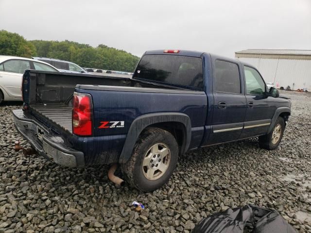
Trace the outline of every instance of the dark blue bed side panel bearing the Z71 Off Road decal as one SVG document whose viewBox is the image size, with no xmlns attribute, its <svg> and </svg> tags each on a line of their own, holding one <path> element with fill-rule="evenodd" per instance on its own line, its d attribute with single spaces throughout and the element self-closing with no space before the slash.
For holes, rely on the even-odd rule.
<svg viewBox="0 0 311 233">
<path fill-rule="evenodd" d="M 135 118 L 144 114 L 178 112 L 190 116 L 191 127 L 204 126 L 207 98 L 200 94 L 172 94 L 77 90 L 93 99 L 94 136 L 126 134 Z M 124 121 L 122 128 L 100 128 L 104 121 Z"/>
</svg>

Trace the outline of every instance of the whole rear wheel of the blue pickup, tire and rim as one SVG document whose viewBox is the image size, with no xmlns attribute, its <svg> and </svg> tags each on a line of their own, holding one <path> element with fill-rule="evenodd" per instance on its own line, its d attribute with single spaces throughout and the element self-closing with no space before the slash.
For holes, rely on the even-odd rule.
<svg viewBox="0 0 311 233">
<path fill-rule="evenodd" d="M 168 182 L 177 158 L 174 136 L 159 128 L 149 128 L 139 136 L 132 157 L 121 168 L 131 186 L 150 192 Z"/>
</svg>

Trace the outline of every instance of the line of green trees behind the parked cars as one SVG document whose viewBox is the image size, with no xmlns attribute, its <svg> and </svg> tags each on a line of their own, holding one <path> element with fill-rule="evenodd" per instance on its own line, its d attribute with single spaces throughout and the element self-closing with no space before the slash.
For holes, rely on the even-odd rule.
<svg viewBox="0 0 311 233">
<path fill-rule="evenodd" d="M 74 41 L 30 40 L 17 33 L 0 31 L 0 55 L 49 57 L 107 70 L 133 72 L 139 57 L 100 44 L 96 48 Z"/>
</svg>

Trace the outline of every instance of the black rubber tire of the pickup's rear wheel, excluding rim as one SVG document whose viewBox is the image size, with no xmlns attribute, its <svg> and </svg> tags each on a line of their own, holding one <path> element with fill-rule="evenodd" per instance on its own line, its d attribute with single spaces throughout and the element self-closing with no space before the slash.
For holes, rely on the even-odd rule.
<svg viewBox="0 0 311 233">
<path fill-rule="evenodd" d="M 159 146 L 157 146 L 159 145 Z M 155 180 L 147 179 L 147 171 L 146 168 L 151 169 L 151 166 L 142 166 L 143 160 L 148 154 L 151 156 L 152 159 L 154 154 L 151 152 L 151 148 L 156 146 L 161 149 L 161 145 L 164 145 L 167 147 L 166 149 L 169 149 L 169 158 L 164 157 L 162 160 L 162 163 L 168 163 L 166 166 L 165 172 L 161 172 L 160 170 L 156 170 L 155 174 L 158 174 L 160 176 L 159 178 L 153 178 Z M 125 177 L 125 180 L 133 187 L 144 191 L 144 192 L 150 192 L 153 191 L 165 183 L 167 183 L 173 174 L 173 171 L 177 164 L 178 159 L 178 144 L 176 142 L 176 139 L 174 136 L 162 129 L 159 128 L 148 128 L 145 131 L 141 133 L 141 135 L 138 138 L 138 141 L 135 144 L 132 157 L 127 161 L 127 163 L 121 165 L 122 173 Z M 157 155 L 159 156 L 159 155 Z M 162 155 L 161 155 L 162 158 Z M 166 160 L 166 159 L 167 160 Z M 158 158 L 155 158 L 154 160 L 158 160 Z M 147 158 L 146 158 L 147 160 Z M 166 162 L 165 162 L 166 160 Z M 149 161 L 149 158 L 148 158 Z M 150 160 L 152 161 L 152 160 Z M 161 165 L 161 161 L 156 161 Z M 150 162 L 151 163 L 151 162 Z M 155 167 L 156 164 L 153 166 Z M 159 166 L 160 167 L 160 166 Z M 154 168 L 157 169 L 157 168 Z"/>
</svg>

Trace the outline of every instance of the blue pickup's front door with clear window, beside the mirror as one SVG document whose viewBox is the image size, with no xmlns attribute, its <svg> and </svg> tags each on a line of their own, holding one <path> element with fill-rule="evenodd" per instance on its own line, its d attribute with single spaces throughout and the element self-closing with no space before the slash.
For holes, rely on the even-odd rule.
<svg viewBox="0 0 311 233">
<path fill-rule="evenodd" d="M 267 97 L 267 87 L 254 67 L 244 66 L 246 115 L 241 137 L 265 134 L 270 126 L 276 108 L 271 105 L 272 97 Z"/>
</svg>

